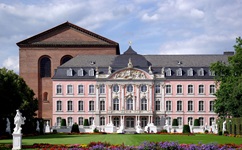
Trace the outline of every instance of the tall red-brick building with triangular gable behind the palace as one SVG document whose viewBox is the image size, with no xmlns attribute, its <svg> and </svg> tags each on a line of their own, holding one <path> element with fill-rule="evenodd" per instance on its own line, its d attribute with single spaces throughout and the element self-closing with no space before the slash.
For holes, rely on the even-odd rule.
<svg viewBox="0 0 242 150">
<path fill-rule="evenodd" d="M 20 76 L 39 100 L 38 117 L 52 120 L 55 69 L 77 55 L 119 55 L 119 44 L 65 22 L 19 43 Z"/>
</svg>

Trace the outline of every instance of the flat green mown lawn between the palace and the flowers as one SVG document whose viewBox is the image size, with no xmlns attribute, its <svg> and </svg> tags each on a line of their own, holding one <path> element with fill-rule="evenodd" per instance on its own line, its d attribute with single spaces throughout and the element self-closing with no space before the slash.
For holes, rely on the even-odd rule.
<svg viewBox="0 0 242 150">
<path fill-rule="evenodd" d="M 23 137 L 23 145 L 34 143 L 49 144 L 88 144 L 92 141 L 109 142 L 111 144 L 140 145 L 143 141 L 174 141 L 187 144 L 218 143 L 218 144 L 242 144 L 242 138 L 218 136 L 210 134 L 196 135 L 159 135 L 159 134 L 49 134 L 41 136 Z M 0 144 L 12 144 L 12 139 L 0 140 Z"/>
</svg>

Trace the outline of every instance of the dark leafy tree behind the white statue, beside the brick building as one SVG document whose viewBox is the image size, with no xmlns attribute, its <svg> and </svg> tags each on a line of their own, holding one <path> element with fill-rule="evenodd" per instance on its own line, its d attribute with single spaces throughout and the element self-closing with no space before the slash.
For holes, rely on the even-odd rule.
<svg viewBox="0 0 242 150">
<path fill-rule="evenodd" d="M 23 78 L 6 68 L 0 69 L 0 118 L 13 118 L 16 110 L 26 118 L 33 118 L 38 101 Z"/>
</svg>

